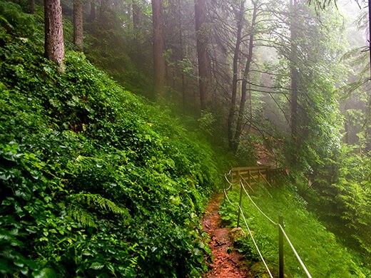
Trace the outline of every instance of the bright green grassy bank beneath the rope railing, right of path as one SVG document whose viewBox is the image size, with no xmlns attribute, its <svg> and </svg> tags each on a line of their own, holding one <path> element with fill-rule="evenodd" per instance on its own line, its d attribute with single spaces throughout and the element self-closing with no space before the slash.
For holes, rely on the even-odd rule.
<svg viewBox="0 0 371 278">
<path fill-rule="evenodd" d="M 307 210 L 305 200 L 295 190 L 289 187 L 267 188 L 264 185 L 256 185 L 253 190 L 252 199 L 271 219 L 278 221 L 278 215 L 283 215 L 285 232 L 312 277 L 370 277 L 370 269 L 362 264 L 359 254 L 337 242 L 335 235 Z M 235 205 L 238 204 L 239 193 L 237 185 L 228 192 Z M 260 214 L 247 195 L 243 196 L 242 208 L 264 259 L 270 269 L 278 273 L 278 227 Z M 226 223 L 236 225 L 235 206 L 225 201 L 220 213 Z M 241 227 L 248 233 L 243 220 Z M 264 277 L 265 268 L 250 236 L 240 240 L 238 247 L 250 260 L 250 271 L 254 276 Z M 285 274 L 288 277 L 306 277 L 286 241 Z"/>
</svg>

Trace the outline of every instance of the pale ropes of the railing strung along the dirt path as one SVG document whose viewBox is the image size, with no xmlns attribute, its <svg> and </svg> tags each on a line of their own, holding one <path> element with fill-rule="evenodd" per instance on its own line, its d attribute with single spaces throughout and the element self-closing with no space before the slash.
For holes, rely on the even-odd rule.
<svg viewBox="0 0 371 278">
<path fill-rule="evenodd" d="M 230 175 L 230 172 L 228 173 Z M 227 180 L 227 182 L 229 183 L 229 187 L 228 188 L 225 188 L 224 189 L 224 195 L 226 197 L 226 199 L 228 200 L 228 202 L 230 202 L 230 205 L 233 205 L 233 203 L 230 201 L 230 199 L 228 198 L 228 194 L 227 194 L 227 191 L 230 190 L 230 188 L 232 187 L 233 183 L 230 182 L 230 180 L 228 180 L 228 177 L 227 175 L 228 174 L 225 174 L 225 180 Z M 278 222 L 275 222 L 273 221 L 270 217 L 268 217 L 268 215 L 266 215 L 263 210 L 260 209 L 260 207 L 258 205 L 256 205 L 256 203 L 253 201 L 253 199 L 251 198 L 250 194 L 248 194 L 248 191 L 245 189 L 245 186 L 243 185 L 243 182 L 245 182 L 249 187 L 250 185 L 248 184 L 248 182 L 246 182 L 246 180 L 244 180 L 243 178 L 240 177 L 240 186 L 241 186 L 241 191 L 240 191 L 240 201 L 241 201 L 241 197 L 242 197 L 242 192 L 244 191 L 245 194 L 248 196 L 250 202 L 253 203 L 253 205 L 256 207 L 256 209 L 273 225 L 275 226 L 278 226 L 280 232 L 282 232 L 282 234 L 284 235 L 285 239 L 288 241 L 288 244 L 290 245 L 290 248 L 293 250 L 294 254 L 295 254 L 295 257 L 298 259 L 298 262 L 300 264 L 300 266 L 303 268 L 305 274 L 307 275 L 308 278 L 312 278 L 312 276 L 310 275 L 310 272 L 308 272 L 308 269 L 307 267 L 305 267 L 305 264 L 303 263 L 303 260 L 300 258 L 298 252 L 296 251 L 295 247 L 293 246 L 293 243 L 290 241 L 290 238 L 288 237 L 288 235 L 286 234 L 285 232 L 285 229 L 283 228 L 283 225 L 281 225 L 280 223 Z M 233 205 L 235 206 L 235 205 Z M 272 274 L 270 273 L 270 270 L 268 268 L 268 265 L 265 263 L 265 260 L 263 258 L 263 255 L 261 254 L 260 252 L 260 249 L 258 248 L 254 238 L 253 238 L 253 235 L 250 231 L 250 227 L 248 227 L 248 222 L 246 221 L 246 218 L 245 218 L 245 215 L 243 214 L 243 210 L 242 210 L 242 207 L 241 207 L 241 202 L 239 203 L 238 205 L 238 222 L 239 222 L 239 218 L 240 218 L 240 215 L 242 215 L 243 217 L 243 220 L 245 222 L 245 225 L 248 229 L 248 232 L 250 234 L 250 237 L 252 238 L 253 240 L 253 243 L 255 245 L 255 248 L 258 250 L 258 253 L 260 255 L 260 258 L 262 259 L 264 265 L 265 265 L 265 268 L 267 269 L 268 273 L 270 274 L 270 277 L 273 277 Z M 281 274 L 280 274 L 281 276 Z M 282 277 L 283 277 L 283 274 L 282 274 Z"/>
</svg>

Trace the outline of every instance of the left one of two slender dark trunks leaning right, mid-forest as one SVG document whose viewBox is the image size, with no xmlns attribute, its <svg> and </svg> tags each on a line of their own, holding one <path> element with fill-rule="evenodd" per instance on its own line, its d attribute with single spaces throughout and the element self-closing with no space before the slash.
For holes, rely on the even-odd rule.
<svg viewBox="0 0 371 278">
<path fill-rule="evenodd" d="M 230 97 L 230 107 L 228 113 L 228 144 L 229 148 L 232 150 L 234 145 L 233 138 L 233 121 L 235 118 L 235 103 L 237 96 L 237 84 L 238 84 L 238 58 L 240 54 L 241 45 L 241 33 L 243 26 L 243 15 L 245 14 L 245 0 L 241 1 L 240 11 L 237 16 L 237 36 L 235 40 L 235 51 L 233 53 L 233 78 L 232 78 L 232 96 Z"/>
</svg>

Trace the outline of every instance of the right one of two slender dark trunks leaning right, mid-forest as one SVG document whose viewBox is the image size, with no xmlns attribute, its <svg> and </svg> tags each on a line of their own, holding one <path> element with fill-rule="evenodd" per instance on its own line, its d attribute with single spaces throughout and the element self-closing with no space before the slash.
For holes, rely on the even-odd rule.
<svg viewBox="0 0 371 278">
<path fill-rule="evenodd" d="M 235 126 L 235 138 L 233 140 L 233 152 L 237 152 L 238 144 L 240 143 L 240 136 L 242 133 L 242 122 L 243 114 L 245 113 L 245 103 L 246 103 L 246 93 L 248 91 L 248 79 L 250 75 L 250 66 L 253 61 L 253 48 L 254 48 L 254 33 L 255 33 L 255 22 L 258 12 L 258 5 L 253 1 L 253 19 L 251 21 L 250 39 L 248 43 L 248 57 L 246 58 L 245 71 L 243 72 L 243 81 L 241 88 L 241 99 L 240 99 L 240 109 L 238 110 L 238 118 Z"/>
</svg>

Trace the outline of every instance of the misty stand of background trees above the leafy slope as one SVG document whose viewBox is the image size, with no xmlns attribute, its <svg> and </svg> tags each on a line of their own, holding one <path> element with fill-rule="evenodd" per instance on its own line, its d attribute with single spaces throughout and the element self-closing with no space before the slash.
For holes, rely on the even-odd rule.
<svg viewBox="0 0 371 278">
<path fill-rule="evenodd" d="M 82 0 L 73 3 L 74 42 L 82 50 Z M 97 14 L 86 27 L 101 38 L 91 43 L 96 63 L 133 86 L 142 86 L 141 78 L 152 72 L 153 83 L 146 80 L 152 96 L 182 103 L 195 115 L 208 112 L 206 118 L 201 113 L 200 122 L 225 135 L 218 136 L 219 143 L 233 153 L 253 142 L 249 136 L 265 140 L 277 130 L 292 139 L 292 150 L 321 149 L 314 138 L 321 141 L 335 128 L 321 113 L 330 119 L 337 111 L 326 78 L 337 74 L 329 63 L 337 57 L 338 40 L 323 36 L 334 19 L 318 20 L 315 9 L 301 0 L 164 3 L 91 0 L 91 14 Z"/>
</svg>

